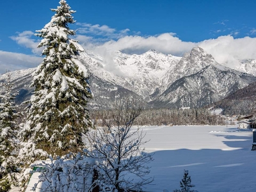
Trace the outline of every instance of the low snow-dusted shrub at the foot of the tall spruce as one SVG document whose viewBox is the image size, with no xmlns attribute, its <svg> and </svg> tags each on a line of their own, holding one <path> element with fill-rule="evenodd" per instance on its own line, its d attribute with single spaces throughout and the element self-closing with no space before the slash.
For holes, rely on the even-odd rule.
<svg viewBox="0 0 256 192">
<path fill-rule="evenodd" d="M 33 190 L 40 185 L 40 191 L 89 191 L 92 184 L 93 166 L 85 156 L 68 154 L 56 160 L 42 161 L 32 166 L 39 166 L 41 175 Z"/>
</svg>

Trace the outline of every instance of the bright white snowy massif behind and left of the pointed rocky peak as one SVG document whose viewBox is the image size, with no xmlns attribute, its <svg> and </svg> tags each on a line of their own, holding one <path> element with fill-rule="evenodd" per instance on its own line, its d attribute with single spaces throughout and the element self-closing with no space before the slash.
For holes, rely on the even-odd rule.
<svg viewBox="0 0 256 192">
<path fill-rule="evenodd" d="M 111 69 L 106 66 L 104 60 L 93 54 L 88 54 L 88 52 L 81 54 L 81 60 L 93 76 L 118 84 L 149 101 L 149 95 L 154 93 L 157 88 L 161 92 L 165 90 L 166 72 L 177 65 L 180 58 L 155 50 L 141 55 L 116 52 L 113 63 L 108 63 L 108 65 L 112 65 Z"/>
</svg>

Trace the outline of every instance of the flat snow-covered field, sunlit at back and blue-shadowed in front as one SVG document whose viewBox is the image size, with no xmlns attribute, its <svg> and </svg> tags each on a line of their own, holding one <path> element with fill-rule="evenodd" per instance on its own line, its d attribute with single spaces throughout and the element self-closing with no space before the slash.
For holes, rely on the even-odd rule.
<svg viewBox="0 0 256 192">
<path fill-rule="evenodd" d="M 154 153 L 146 191 L 179 189 L 189 170 L 200 192 L 256 191 L 256 151 L 252 131 L 225 126 L 141 127 L 147 133 L 147 152 Z"/>
</svg>

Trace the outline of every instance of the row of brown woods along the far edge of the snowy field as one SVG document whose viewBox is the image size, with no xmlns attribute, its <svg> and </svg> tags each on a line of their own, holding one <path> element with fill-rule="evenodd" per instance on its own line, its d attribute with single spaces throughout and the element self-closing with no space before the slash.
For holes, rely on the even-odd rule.
<svg viewBox="0 0 256 192">
<path fill-rule="evenodd" d="M 95 125 L 101 126 L 111 118 L 111 110 L 90 111 Z M 209 109 L 141 109 L 134 125 L 226 125 L 226 119 L 214 115 Z"/>
</svg>

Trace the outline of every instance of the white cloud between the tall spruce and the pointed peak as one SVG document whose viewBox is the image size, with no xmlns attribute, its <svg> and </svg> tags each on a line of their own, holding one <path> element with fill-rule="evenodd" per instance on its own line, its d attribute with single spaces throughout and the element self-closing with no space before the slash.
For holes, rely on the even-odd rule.
<svg viewBox="0 0 256 192">
<path fill-rule="evenodd" d="M 81 36 L 79 37 L 81 39 Z M 118 74 L 119 76 L 125 76 L 118 66 L 116 66 L 113 59 L 115 58 L 116 51 L 122 51 L 129 54 L 142 54 L 150 49 L 156 49 L 164 54 L 173 54 L 175 56 L 182 56 L 184 52 L 190 51 L 196 46 L 193 42 L 182 42 L 175 36 L 175 33 L 164 33 L 157 36 L 124 36 L 118 40 L 109 40 L 99 44 L 94 44 L 91 39 L 84 38 L 88 42 L 83 42 L 85 49 L 95 54 L 99 54 L 104 58 L 105 69 Z"/>
</svg>

